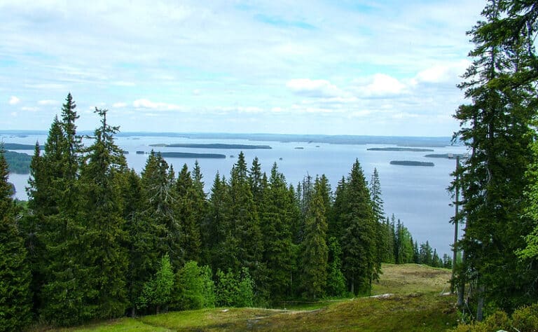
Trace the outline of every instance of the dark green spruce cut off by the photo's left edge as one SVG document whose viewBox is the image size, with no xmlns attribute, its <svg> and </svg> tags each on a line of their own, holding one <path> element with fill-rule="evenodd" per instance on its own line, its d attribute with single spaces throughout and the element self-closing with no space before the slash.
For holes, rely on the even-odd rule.
<svg viewBox="0 0 538 332">
<path fill-rule="evenodd" d="M 32 276 L 25 242 L 18 230 L 17 214 L 8 184 L 4 146 L 0 144 L 0 331 L 20 331 L 32 319 Z"/>
</svg>

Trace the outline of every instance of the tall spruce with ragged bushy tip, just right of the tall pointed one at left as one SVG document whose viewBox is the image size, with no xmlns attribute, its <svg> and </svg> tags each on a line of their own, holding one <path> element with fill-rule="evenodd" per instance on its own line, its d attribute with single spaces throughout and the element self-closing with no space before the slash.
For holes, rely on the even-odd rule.
<svg viewBox="0 0 538 332">
<path fill-rule="evenodd" d="M 79 186 L 86 198 L 78 218 L 84 226 L 79 241 L 81 263 L 88 270 L 83 285 L 88 289 L 83 305 L 91 307 L 90 318 L 120 317 L 127 307 L 125 273 L 127 252 L 121 246 L 123 233 L 123 196 L 127 162 L 114 143 L 119 130 L 106 122 L 106 109 L 95 109 L 101 126 L 95 141 L 85 151 Z"/>
</svg>

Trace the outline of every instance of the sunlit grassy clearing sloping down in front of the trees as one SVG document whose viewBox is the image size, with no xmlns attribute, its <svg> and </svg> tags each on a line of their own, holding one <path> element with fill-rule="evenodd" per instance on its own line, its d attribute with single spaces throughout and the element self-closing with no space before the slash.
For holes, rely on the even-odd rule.
<svg viewBox="0 0 538 332">
<path fill-rule="evenodd" d="M 374 294 L 326 300 L 287 310 L 214 308 L 116 319 L 60 331 L 444 331 L 457 322 L 450 271 L 423 265 L 383 265 Z"/>
</svg>

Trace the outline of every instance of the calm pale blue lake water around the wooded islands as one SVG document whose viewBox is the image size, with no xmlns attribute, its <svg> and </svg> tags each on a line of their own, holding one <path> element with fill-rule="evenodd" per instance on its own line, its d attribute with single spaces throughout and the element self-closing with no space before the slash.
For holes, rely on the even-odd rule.
<svg viewBox="0 0 538 332">
<path fill-rule="evenodd" d="M 46 141 L 46 135 L 29 135 L 28 137 L 3 137 L 6 143 L 41 144 Z M 450 207 L 450 195 L 446 188 L 450 184 L 450 172 L 455 168 L 455 160 L 441 158 L 425 158 L 428 153 L 464 153 L 463 146 L 450 146 L 445 148 L 432 148 L 434 152 L 410 151 L 367 151 L 371 147 L 385 147 L 387 145 L 337 145 L 304 142 L 277 142 L 277 141 L 247 141 L 227 139 L 187 139 L 181 137 L 118 137 L 116 143 L 125 151 L 127 162 L 131 168 L 140 172 L 146 163 L 147 155 L 137 155 L 136 151 L 151 151 L 149 144 L 172 143 L 219 143 L 226 144 L 256 144 L 270 145 L 270 150 L 246 150 L 244 155 L 247 163 L 258 157 L 262 170 L 270 172 L 273 162 L 277 162 L 280 172 L 284 173 L 289 184 L 296 185 L 310 174 L 325 174 L 336 184 L 343 175 L 350 172 L 352 163 L 358 159 L 366 175 L 371 178 L 374 167 L 378 169 L 381 181 L 382 198 L 385 201 L 385 212 L 394 214 L 396 218 L 409 228 L 413 238 L 418 242 L 429 240 L 436 248 L 439 256 L 450 254 L 450 244 L 453 242 L 453 225 L 449 223 L 454 214 Z M 301 146 L 303 149 L 296 149 Z M 229 177 L 231 167 L 236 161 L 238 150 L 197 149 L 197 148 L 154 148 L 156 151 L 184 151 L 198 153 L 222 153 L 226 159 L 200 159 L 200 168 L 204 174 L 206 191 L 212 186 L 216 172 Z M 18 151 L 32 154 L 33 151 Z M 235 158 L 230 158 L 234 155 Z M 282 158 L 282 160 L 280 160 Z M 192 169 L 195 160 L 189 158 L 166 158 L 169 164 L 174 165 L 178 172 L 186 163 Z M 389 165 L 390 160 L 418 160 L 434 162 L 435 167 L 411 167 Z M 28 175 L 11 174 L 10 181 L 17 188 L 16 197 L 26 200 L 25 186 Z"/>
</svg>

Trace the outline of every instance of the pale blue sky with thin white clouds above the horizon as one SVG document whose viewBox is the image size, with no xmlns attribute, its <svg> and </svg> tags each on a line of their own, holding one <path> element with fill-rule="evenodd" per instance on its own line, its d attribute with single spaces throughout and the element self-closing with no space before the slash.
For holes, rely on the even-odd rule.
<svg viewBox="0 0 538 332">
<path fill-rule="evenodd" d="M 485 0 L 0 0 L 0 129 L 451 136 Z"/>
</svg>

